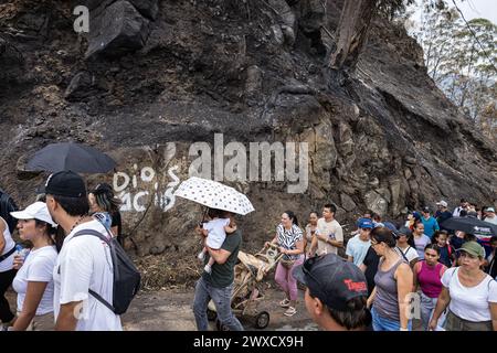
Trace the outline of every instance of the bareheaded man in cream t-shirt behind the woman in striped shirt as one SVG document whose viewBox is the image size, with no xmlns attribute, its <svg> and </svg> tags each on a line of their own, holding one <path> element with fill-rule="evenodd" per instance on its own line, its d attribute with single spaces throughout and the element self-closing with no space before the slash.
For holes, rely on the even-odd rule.
<svg viewBox="0 0 497 353">
<path fill-rule="evenodd" d="M 326 204 L 322 207 L 322 218 L 319 218 L 317 224 L 319 234 L 313 238 L 310 244 L 311 254 L 337 255 L 338 248 L 343 247 L 343 229 L 335 220 L 336 212 L 337 207 L 334 204 Z"/>
</svg>

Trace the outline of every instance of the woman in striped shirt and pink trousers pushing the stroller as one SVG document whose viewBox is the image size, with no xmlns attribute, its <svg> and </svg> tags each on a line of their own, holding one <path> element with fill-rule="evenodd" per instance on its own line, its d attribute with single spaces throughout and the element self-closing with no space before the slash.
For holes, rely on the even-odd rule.
<svg viewBox="0 0 497 353">
<path fill-rule="evenodd" d="M 292 211 L 286 211 L 282 214 L 282 223 L 276 228 L 276 236 L 271 244 L 277 244 L 279 252 L 283 255 L 276 267 L 275 281 L 285 292 L 285 299 L 279 302 L 279 306 L 287 308 L 285 315 L 293 317 L 297 310 L 297 280 L 292 275 L 294 267 L 304 261 L 302 254 L 304 254 L 303 232 L 298 227 L 297 216 Z M 265 246 L 269 246 L 266 242 Z"/>
</svg>

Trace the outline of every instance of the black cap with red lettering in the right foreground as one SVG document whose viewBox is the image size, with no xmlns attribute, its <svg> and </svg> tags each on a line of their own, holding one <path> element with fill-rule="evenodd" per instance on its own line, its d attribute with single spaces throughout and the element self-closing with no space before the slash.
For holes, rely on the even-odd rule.
<svg viewBox="0 0 497 353">
<path fill-rule="evenodd" d="M 293 275 L 314 297 L 335 310 L 347 311 L 350 299 L 368 297 L 364 274 L 335 254 L 308 258 Z"/>
</svg>

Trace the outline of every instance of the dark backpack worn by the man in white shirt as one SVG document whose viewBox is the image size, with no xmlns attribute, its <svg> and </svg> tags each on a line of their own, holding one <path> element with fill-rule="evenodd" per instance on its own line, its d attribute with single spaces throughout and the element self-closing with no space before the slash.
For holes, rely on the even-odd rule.
<svg viewBox="0 0 497 353">
<path fill-rule="evenodd" d="M 133 264 L 124 248 L 119 245 L 117 238 L 112 237 L 112 234 L 109 234 L 112 237 L 109 239 L 97 231 L 83 229 L 74 234 L 74 237 L 81 235 L 93 235 L 105 242 L 110 248 L 110 257 L 114 267 L 113 303 L 107 302 L 92 289 L 89 289 L 88 292 L 115 314 L 125 313 L 140 287 L 140 272 L 137 270 L 135 264 Z"/>
</svg>

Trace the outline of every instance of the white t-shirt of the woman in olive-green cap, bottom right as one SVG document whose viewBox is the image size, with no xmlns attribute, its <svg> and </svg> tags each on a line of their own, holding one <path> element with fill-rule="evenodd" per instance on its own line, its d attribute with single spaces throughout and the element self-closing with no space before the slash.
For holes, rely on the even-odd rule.
<svg viewBox="0 0 497 353">
<path fill-rule="evenodd" d="M 497 281 L 486 275 L 475 287 L 464 287 L 457 276 L 458 267 L 447 269 L 442 276 L 442 285 L 448 288 L 448 309 L 461 319 L 482 322 L 490 321 L 490 302 L 497 302 Z"/>
</svg>

